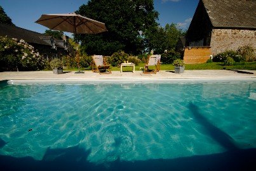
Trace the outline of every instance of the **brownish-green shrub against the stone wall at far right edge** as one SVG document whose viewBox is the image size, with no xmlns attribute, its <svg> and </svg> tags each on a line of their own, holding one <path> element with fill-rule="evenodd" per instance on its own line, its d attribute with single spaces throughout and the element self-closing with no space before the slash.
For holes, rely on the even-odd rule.
<svg viewBox="0 0 256 171">
<path fill-rule="evenodd" d="M 243 56 L 245 61 L 256 61 L 256 50 L 251 45 L 239 47 L 238 53 Z"/>
</svg>

